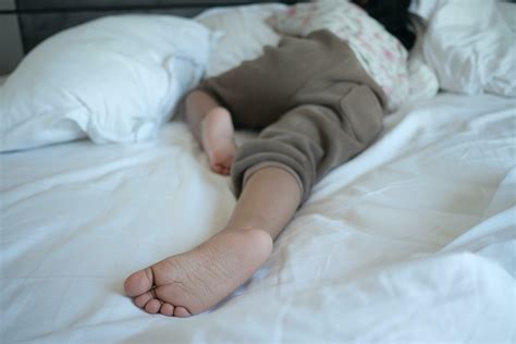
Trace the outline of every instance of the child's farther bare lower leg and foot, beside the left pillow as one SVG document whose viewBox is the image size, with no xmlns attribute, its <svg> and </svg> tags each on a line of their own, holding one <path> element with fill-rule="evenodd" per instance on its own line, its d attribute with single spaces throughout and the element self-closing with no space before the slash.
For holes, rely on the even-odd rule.
<svg viewBox="0 0 516 344">
<path fill-rule="evenodd" d="M 194 90 L 186 97 L 186 121 L 205 149 L 210 168 L 230 174 L 236 152 L 230 112 L 207 93 Z"/>
</svg>

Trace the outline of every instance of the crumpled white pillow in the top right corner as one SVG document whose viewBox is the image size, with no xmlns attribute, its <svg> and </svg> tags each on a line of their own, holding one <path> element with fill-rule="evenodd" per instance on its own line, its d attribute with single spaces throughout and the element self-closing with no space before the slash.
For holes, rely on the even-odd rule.
<svg viewBox="0 0 516 344">
<path fill-rule="evenodd" d="M 423 52 L 441 88 L 516 96 L 516 34 L 494 0 L 419 0 L 410 10 L 428 21 Z"/>
</svg>

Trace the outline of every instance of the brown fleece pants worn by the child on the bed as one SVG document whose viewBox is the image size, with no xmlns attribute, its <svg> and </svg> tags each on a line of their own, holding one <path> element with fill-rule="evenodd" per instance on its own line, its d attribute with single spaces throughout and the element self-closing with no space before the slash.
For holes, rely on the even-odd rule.
<svg viewBox="0 0 516 344">
<path fill-rule="evenodd" d="M 354 52 L 328 30 L 278 47 L 201 83 L 237 128 L 261 131 L 239 147 L 232 169 L 238 196 L 258 169 L 292 173 L 303 193 L 367 148 L 382 128 L 385 96 Z"/>
</svg>

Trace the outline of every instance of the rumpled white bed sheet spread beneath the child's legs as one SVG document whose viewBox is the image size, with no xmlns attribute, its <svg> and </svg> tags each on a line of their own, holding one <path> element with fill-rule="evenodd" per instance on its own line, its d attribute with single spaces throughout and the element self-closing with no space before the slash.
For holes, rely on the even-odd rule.
<svg viewBox="0 0 516 344">
<path fill-rule="evenodd" d="M 183 123 L 155 143 L 1 155 L 2 343 L 514 343 L 515 109 L 445 94 L 389 116 L 266 266 L 187 319 L 122 288 L 235 204 Z"/>
</svg>

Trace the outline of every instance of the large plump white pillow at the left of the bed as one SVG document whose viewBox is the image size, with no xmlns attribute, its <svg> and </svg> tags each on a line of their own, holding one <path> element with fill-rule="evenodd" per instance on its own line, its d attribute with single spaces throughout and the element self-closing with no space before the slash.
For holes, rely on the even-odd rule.
<svg viewBox="0 0 516 344">
<path fill-rule="evenodd" d="M 0 151 L 155 136 L 200 79 L 213 35 L 167 15 L 102 17 L 47 39 L 0 87 Z"/>
</svg>

